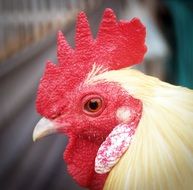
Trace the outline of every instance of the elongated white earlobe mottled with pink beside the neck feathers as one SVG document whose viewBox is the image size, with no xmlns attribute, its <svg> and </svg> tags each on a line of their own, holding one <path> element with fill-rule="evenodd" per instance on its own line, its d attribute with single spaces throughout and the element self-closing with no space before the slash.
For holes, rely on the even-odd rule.
<svg viewBox="0 0 193 190">
<path fill-rule="evenodd" d="M 95 158 L 95 172 L 107 173 L 129 148 L 135 128 L 127 124 L 117 125 L 101 144 Z"/>
</svg>

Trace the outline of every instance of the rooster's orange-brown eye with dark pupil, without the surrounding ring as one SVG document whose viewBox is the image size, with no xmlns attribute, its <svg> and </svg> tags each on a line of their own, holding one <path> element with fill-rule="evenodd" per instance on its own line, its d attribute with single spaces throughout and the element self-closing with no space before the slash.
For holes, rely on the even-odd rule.
<svg viewBox="0 0 193 190">
<path fill-rule="evenodd" d="M 84 104 L 86 112 L 95 113 L 102 107 L 102 100 L 100 98 L 91 98 Z"/>
</svg>

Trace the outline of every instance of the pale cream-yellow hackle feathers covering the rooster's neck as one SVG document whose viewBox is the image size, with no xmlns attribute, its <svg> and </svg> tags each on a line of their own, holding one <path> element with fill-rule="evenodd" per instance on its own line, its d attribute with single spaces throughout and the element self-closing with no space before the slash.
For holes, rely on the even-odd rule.
<svg viewBox="0 0 193 190">
<path fill-rule="evenodd" d="M 143 102 L 133 141 L 111 170 L 105 190 L 193 189 L 193 91 L 131 68 L 87 82 L 117 82 Z"/>
</svg>

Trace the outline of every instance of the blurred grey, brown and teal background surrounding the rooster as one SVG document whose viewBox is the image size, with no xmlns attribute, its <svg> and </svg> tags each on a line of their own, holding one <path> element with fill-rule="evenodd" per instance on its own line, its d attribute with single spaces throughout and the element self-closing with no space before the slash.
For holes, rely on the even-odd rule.
<svg viewBox="0 0 193 190">
<path fill-rule="evenodd" d="M 77 12 L 96 36 L 105 8 L 147 27 L 143 72 L 193 88 L 193 1 L 0 0 L 0 189 L 80 190 L 67 174 L 62 135 L 32 142 L 35 97 L 46 60 L 57 63 L 56 33 L 73 46 Z"/>
</svg>

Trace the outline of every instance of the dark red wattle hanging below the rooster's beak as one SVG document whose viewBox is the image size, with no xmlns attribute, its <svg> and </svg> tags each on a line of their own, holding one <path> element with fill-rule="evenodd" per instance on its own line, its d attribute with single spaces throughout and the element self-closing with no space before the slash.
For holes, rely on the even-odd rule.
<svg viewBox="0 0 193 190">
<path fill-rule="evenodd" d="M 99 145 L 93 142 L 70 137 L 64 152 L 69 174 L 80 186 L 91 190 L 102 190 L 108 176 L 94 171 L 94 160 L 98 149 Z"/>
</svg>

